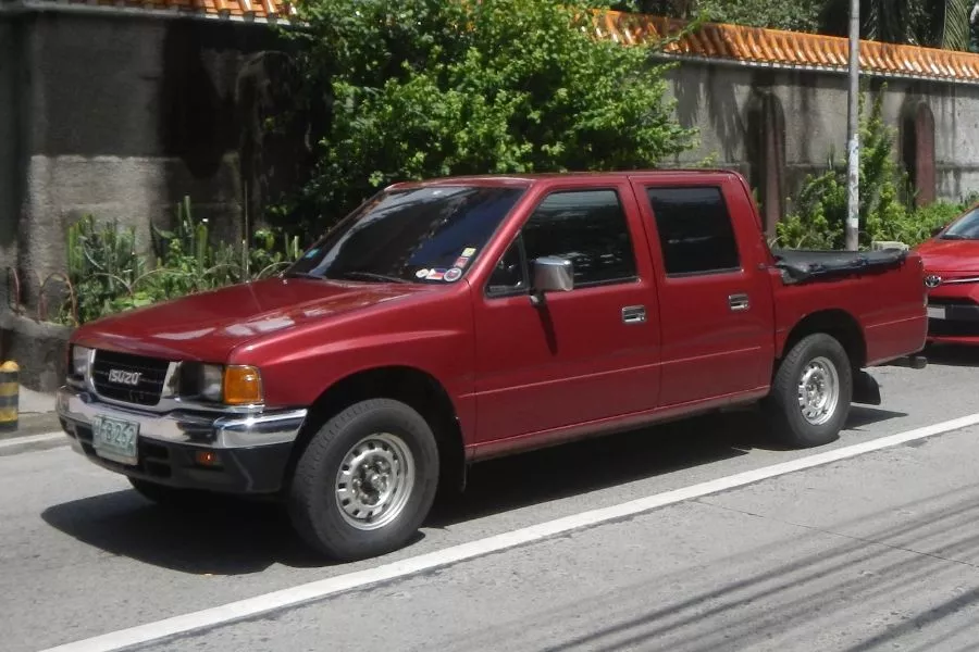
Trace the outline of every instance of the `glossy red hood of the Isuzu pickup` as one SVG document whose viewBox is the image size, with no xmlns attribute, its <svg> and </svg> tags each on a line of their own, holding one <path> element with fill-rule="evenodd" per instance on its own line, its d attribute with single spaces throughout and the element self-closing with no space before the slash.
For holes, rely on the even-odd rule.
<svg viewBox="0 0 979 652">
<path fill-rule="evenodd" d="M 222 362 L 271 333 L 433 291 L 432 286 L 272 278 L 99 319 L 73 341 L 170 360 Z"/>
</svg>

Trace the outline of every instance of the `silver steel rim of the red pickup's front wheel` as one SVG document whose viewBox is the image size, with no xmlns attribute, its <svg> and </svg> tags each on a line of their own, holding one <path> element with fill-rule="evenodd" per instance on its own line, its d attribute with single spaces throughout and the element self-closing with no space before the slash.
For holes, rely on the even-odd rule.
<svg viewBox="0 0 979 652">
<path fill-rule="evenodd" d="M 405 441 L 381 432 L 358 441 L 336 474 L 336 504 L 350 526 L 373 530 L 405 511 L 414 488 L 414 456 Z"/>
</svg>

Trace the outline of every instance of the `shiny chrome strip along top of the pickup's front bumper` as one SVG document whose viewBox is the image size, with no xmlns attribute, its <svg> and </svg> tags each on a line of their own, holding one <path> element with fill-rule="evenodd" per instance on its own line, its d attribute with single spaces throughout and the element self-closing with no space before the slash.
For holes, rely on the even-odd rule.
<svg viewBox="0 0 979 652">
<path fill-rule="evenodd" d="M 99 416 L 139 424 L 139 436 L 169 443 L 215 449 L 253 448 L 295 441 L 306 421 L 306 410 L 262 414 L 214 414 L 174 411 L 164 414 L 122 408 L 96 399 L 74 387 L 58 390 L 58 415 L 72 424 L 91 426 Z"/>
</svg>

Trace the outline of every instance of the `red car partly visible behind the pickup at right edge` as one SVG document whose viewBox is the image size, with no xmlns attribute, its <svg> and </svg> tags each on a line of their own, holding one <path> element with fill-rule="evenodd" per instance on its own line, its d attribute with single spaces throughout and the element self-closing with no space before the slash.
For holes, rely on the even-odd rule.
<svg viewBox="0 0 979 652">
<path fill-rule="evenodd" d="M 917 248 L 928 288 L 928 339 L 979 344 L 979 205 Z"/>
</svg>

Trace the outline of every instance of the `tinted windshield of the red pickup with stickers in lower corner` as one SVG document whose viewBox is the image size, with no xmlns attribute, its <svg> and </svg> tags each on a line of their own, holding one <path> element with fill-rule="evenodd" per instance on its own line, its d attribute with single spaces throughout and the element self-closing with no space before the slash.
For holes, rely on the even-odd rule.
<svg viewBox="0 0 979 652">
<path fill-rule="evenodd" d="M 382 192 L 323 236 L 286 276 L 375 283 L 458 280 L 524 191 L 432 186 Z"/>
</svg>

